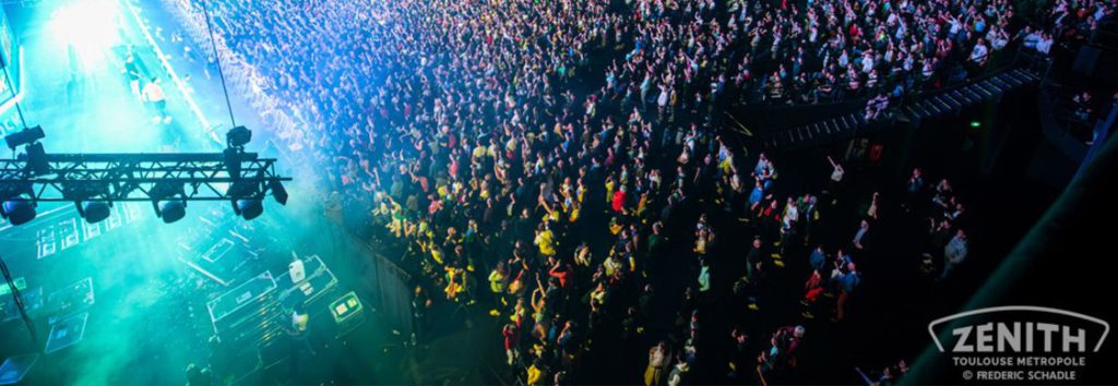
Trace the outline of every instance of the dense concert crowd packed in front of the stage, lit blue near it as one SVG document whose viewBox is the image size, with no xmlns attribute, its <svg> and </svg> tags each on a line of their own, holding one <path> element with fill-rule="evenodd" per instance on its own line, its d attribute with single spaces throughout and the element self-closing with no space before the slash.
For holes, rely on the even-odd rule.
<svg viewBox="0 0 1118 386">
<path fill-rule="evenodd" d="M 199 2 L 168 2 L 203 36 Z M 597 380 L 595 366 L 634 350 L 646 360 L 615 380 L 680 385 L 727 363 L 731 378 L 786 379 L 806 328 L 712 338 L 703 305 L 754 312 L 787 267 L 807 277 L 803 319 L 841 324 L 882 212 L 927 219 L 928 276 L 949 277 L 968 248 L 948 180 L 913 170 L 897 183 L 902 209 L 874 193 L 860 223 L 827 221 L 850 192 L 839 161 L 809 189 L 781 189 L 776 162 L 720 136 L 711 113 L 940 87 L 1112 13 L 1059 1 L 1029 25 L 1007 0 L 209 4 L 235 88 L 386 248 L 420 262 L 420 339 L 430 305 L 483 307 L 529 385 Z M 701 354 L 712 339 L 730 357 Z"/>
</svg>

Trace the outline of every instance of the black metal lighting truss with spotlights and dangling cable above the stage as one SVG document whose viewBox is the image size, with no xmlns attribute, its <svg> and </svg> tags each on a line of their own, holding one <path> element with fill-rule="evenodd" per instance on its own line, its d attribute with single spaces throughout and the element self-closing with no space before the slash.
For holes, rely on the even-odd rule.
<svg viewBox="0 0 1118 386">
<path fill-rule="evenodd" d="M 36 142 L 42 137 L 41 129 L 35 132 L 25 129 L 4 138 L 12 149 L 27 145 L 27 152 L 17 158 L 0 160 L 0 214 L 12 224 L 34 220 L 34 208 L 39 202 L 74 202 L 91 223 L 107 218 L 106 204 L 113 202 L 151 202 L 164 222 L 182 219 L 187 201 L 229 201 L 234 211 L 247 220 L 259 215 L 260 202 L 268 195 L 281 204 L 287 202 L 283 182 L 292 178 L 276 173 L 275 158 L 245 153 L 243 145 L 248 137 L 240 137 L 236 146 L 230 144 L 221 153 L 46 154 Z M 246 201 L 255 202 L 255 211 L 247 209 L 252 204 L 243 204 Z M 160 202 L 179 203 L 178 210 L 161 206 Z M 100 205 L 102 210 L 92 214 L 93 206 L 84 205 Z M 0 273 L 31 340 L 38 344 L 35 325 L 2 260 Z"/>
</svg>

